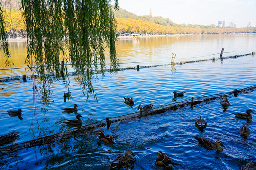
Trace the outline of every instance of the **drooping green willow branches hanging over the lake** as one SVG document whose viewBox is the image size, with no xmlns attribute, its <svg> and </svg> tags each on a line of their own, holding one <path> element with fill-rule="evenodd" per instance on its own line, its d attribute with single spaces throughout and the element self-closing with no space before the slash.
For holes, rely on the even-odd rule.
<svg viewBox="0 0 256 170">
<path fill-rule="evenodd" d="M 28 37 L 25 63 L 40 76 L 34 89 L 41 92 L 44 104 L 51 102 L 51 85 L 61 77 L 60 60 L 71 64 L 87 100 L 91 94 L 96 96 L 92 81 L 97 76 L 93 69 L 104 76 L 106 46 L 110 49 L 110 68 L 116 70 L 119 67 L 115 48 L 116 21 L 110 3 L 111 0 L 21 0 L 20 10 Z M 114 6 L 117 10 L 117 0 Z M 2 9 L 0 33 L 9 65 Z M 68 75 L 66 68 L 64 74 Z"/>
</svg>

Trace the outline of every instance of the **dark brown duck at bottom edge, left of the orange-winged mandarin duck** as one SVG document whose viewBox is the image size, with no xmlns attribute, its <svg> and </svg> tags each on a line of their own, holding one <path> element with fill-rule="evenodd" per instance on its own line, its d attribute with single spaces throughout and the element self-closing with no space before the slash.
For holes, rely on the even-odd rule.
<svg viewBox="0 0 256 170">
<path fill-rule="evenodd" d="M 113 161 L 111 161 L 110 170 L 116 170 L 117 168 L 129 166 L 128 163 L 132 159 L 132 155 L 134 154 L 129 149 L 125 151 L 124 155 L 118 155 Z"/>
</svg>

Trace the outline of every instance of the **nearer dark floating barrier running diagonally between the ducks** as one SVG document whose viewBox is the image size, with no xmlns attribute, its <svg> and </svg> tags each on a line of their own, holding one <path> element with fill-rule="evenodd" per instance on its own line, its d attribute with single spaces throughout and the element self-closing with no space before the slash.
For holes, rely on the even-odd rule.
<svg viewBox="0 0 256 170">
<path fill-rule="evenodd" d="M 238 94 L 244 93 L 244 92 L 246 92 L 246 93 L 252 92 L 255 89 L 256 89 L 256 85 L 253 85 L 253 86 L 241 89 L 241 90 L 235 89 L 234 91 L 236 91 L 236 94 L 238 95 Z M 118 116 L 115 118 L 106 118 L 106 121 L 105 121 L 105 119 L 103 119 L 99 122 L 96 122 L 96 123 L 93 123 L 90 125 L 73 128 L 71 130 L 67 130 L 67 131 L 57 133 L 54 135 L 41 137 L 41 138 L 34 139 L 31 141 L 23 142 L 20 144 L 13 144 L 10 146 L 2 147 L 2 148 L 0 148 L 0 156 L 4 155 L 4 154 L 16 152 L 16 151 L 24 149 L 24 148 L 31 148 L 31 147 L 35 147 L 35 146 L 51 144 L 58 140 L 70 139 L 70 138 L 74 138 L 76 136 L 84 136 L 86 134 L 91 134 L 93 131 L 95 131 L 99 127 L 107 126 L 107 128 L 109 128 L 110 124 L 113 124 L 113 123 L 116 123 L 119 121 L 133 120 L 136 118 L 142 118 L 142 117 L 146 117 L 146 116 L 150 116 L 150 115 L 156 115 L 159 113 L 165 113 L 166 111 L 176 110 L 178 108 L 188 107 L 188 106 L 192 106 L 192 105 L 194 106 L 201 102 L 206 102 L 206 104 L 207 104 L 207 101 L 212 101 L 212 100 L 215 100 L 218 98 L 232 96 L 234 91 L 228 92 L 228 93 L 220 93 L 220 94 L 215 94 L 215 95 L 210 95 L 210 96 L 192 98 L 191 100 L 189 99 L 189 100 L 185 100 L 182 102 L 176 102 L 173 104 L 168 104 L 168 105 L 153 108 L 150 110 L 143 110 L 143 111 L 139 111 L 139 112 L 123 115 L 123 116 Z"/>
</svg>

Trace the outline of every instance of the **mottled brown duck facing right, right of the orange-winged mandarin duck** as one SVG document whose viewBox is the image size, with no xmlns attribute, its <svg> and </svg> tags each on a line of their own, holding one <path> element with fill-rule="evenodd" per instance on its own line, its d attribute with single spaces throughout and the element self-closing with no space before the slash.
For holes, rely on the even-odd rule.
<svg viewBox="0 0 256 170">
<path fill-rule="evenodd" d="M 220 146 L 223 146 L 226 148 L 221 141 L 217 140 L 215 143 L 213 141 L 210 141 L 204 137 L 195 137 L 195 139 L 199 142 L 199 144 L 203 145 L 206 149 L 210 150 L 216 150 L 217 152 L 222 152 L 223 148 Z"/>
</svg>

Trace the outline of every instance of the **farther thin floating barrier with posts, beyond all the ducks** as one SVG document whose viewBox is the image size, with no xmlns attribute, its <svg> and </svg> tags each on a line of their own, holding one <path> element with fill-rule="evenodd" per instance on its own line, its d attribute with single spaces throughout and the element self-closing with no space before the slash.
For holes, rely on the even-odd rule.
<svg viewBox="0 0 256 170">
<path fill-rule="evenodd" d="M 252 53 L 249 54 L 243 54 L 243 55 L 235 55 L 235 56 L 227 56 L 227 57 L 223 57 L 222 59 L 229 59 L 229 58 L 238 58 L 238 57 L 242 57 L 242 56 L 247 56 L 247 55 L 252 55 Z M 216 58 L 216 60 L 221 59 L 221 58 Z M 202 61 L 210 61 L 212 59 L 202 59 L 202 60 L 195 60 L 195 61 L 181 61 L 179 63 L 173 63 L 173 64 L 186 64 L 186 63 L 194 63 L 194 62 L 202 62 Z M 159 66 L 168 66 L 171 64 L 162 64 L 162 65 L 152 65 L 152 66 L 140 66 L 139 68 L 152 68 L 152 67 L 159 67 Z M 139 66 L 139 65 L 137 65 Z M 104 72 L 111 72 L 111 71 L 123 71 L 123 70 L 129 70 L 129 69 L 136 69 L 136 67 L 127 67 L 127 68 L 119 68 L 117 70 L 113 70 L 113 69 L 105 69 Z M 1 69 L 1 70 L 5 70 L 5 69 Z M 99 71 L 94 71 L 94 73 L 99 73 Z M 68 76 L 74 76 L 75 73 L 69 73 Z M 33 78 L 37 78 L 39 75 L 31 75 L 31 76 L 26 76 L 26 79 L 33 79 Z M 55 76 L 55 75 L 48 75 L 48 76 Z M 0 78 L 0 83 L 1 82 L 7 82 L 7 81 L 16 81 L 16 80 L 22 80 L 23 76 L 14 76 L 14 77 L 5 77 L 5 78 Z"/>
</svg>

